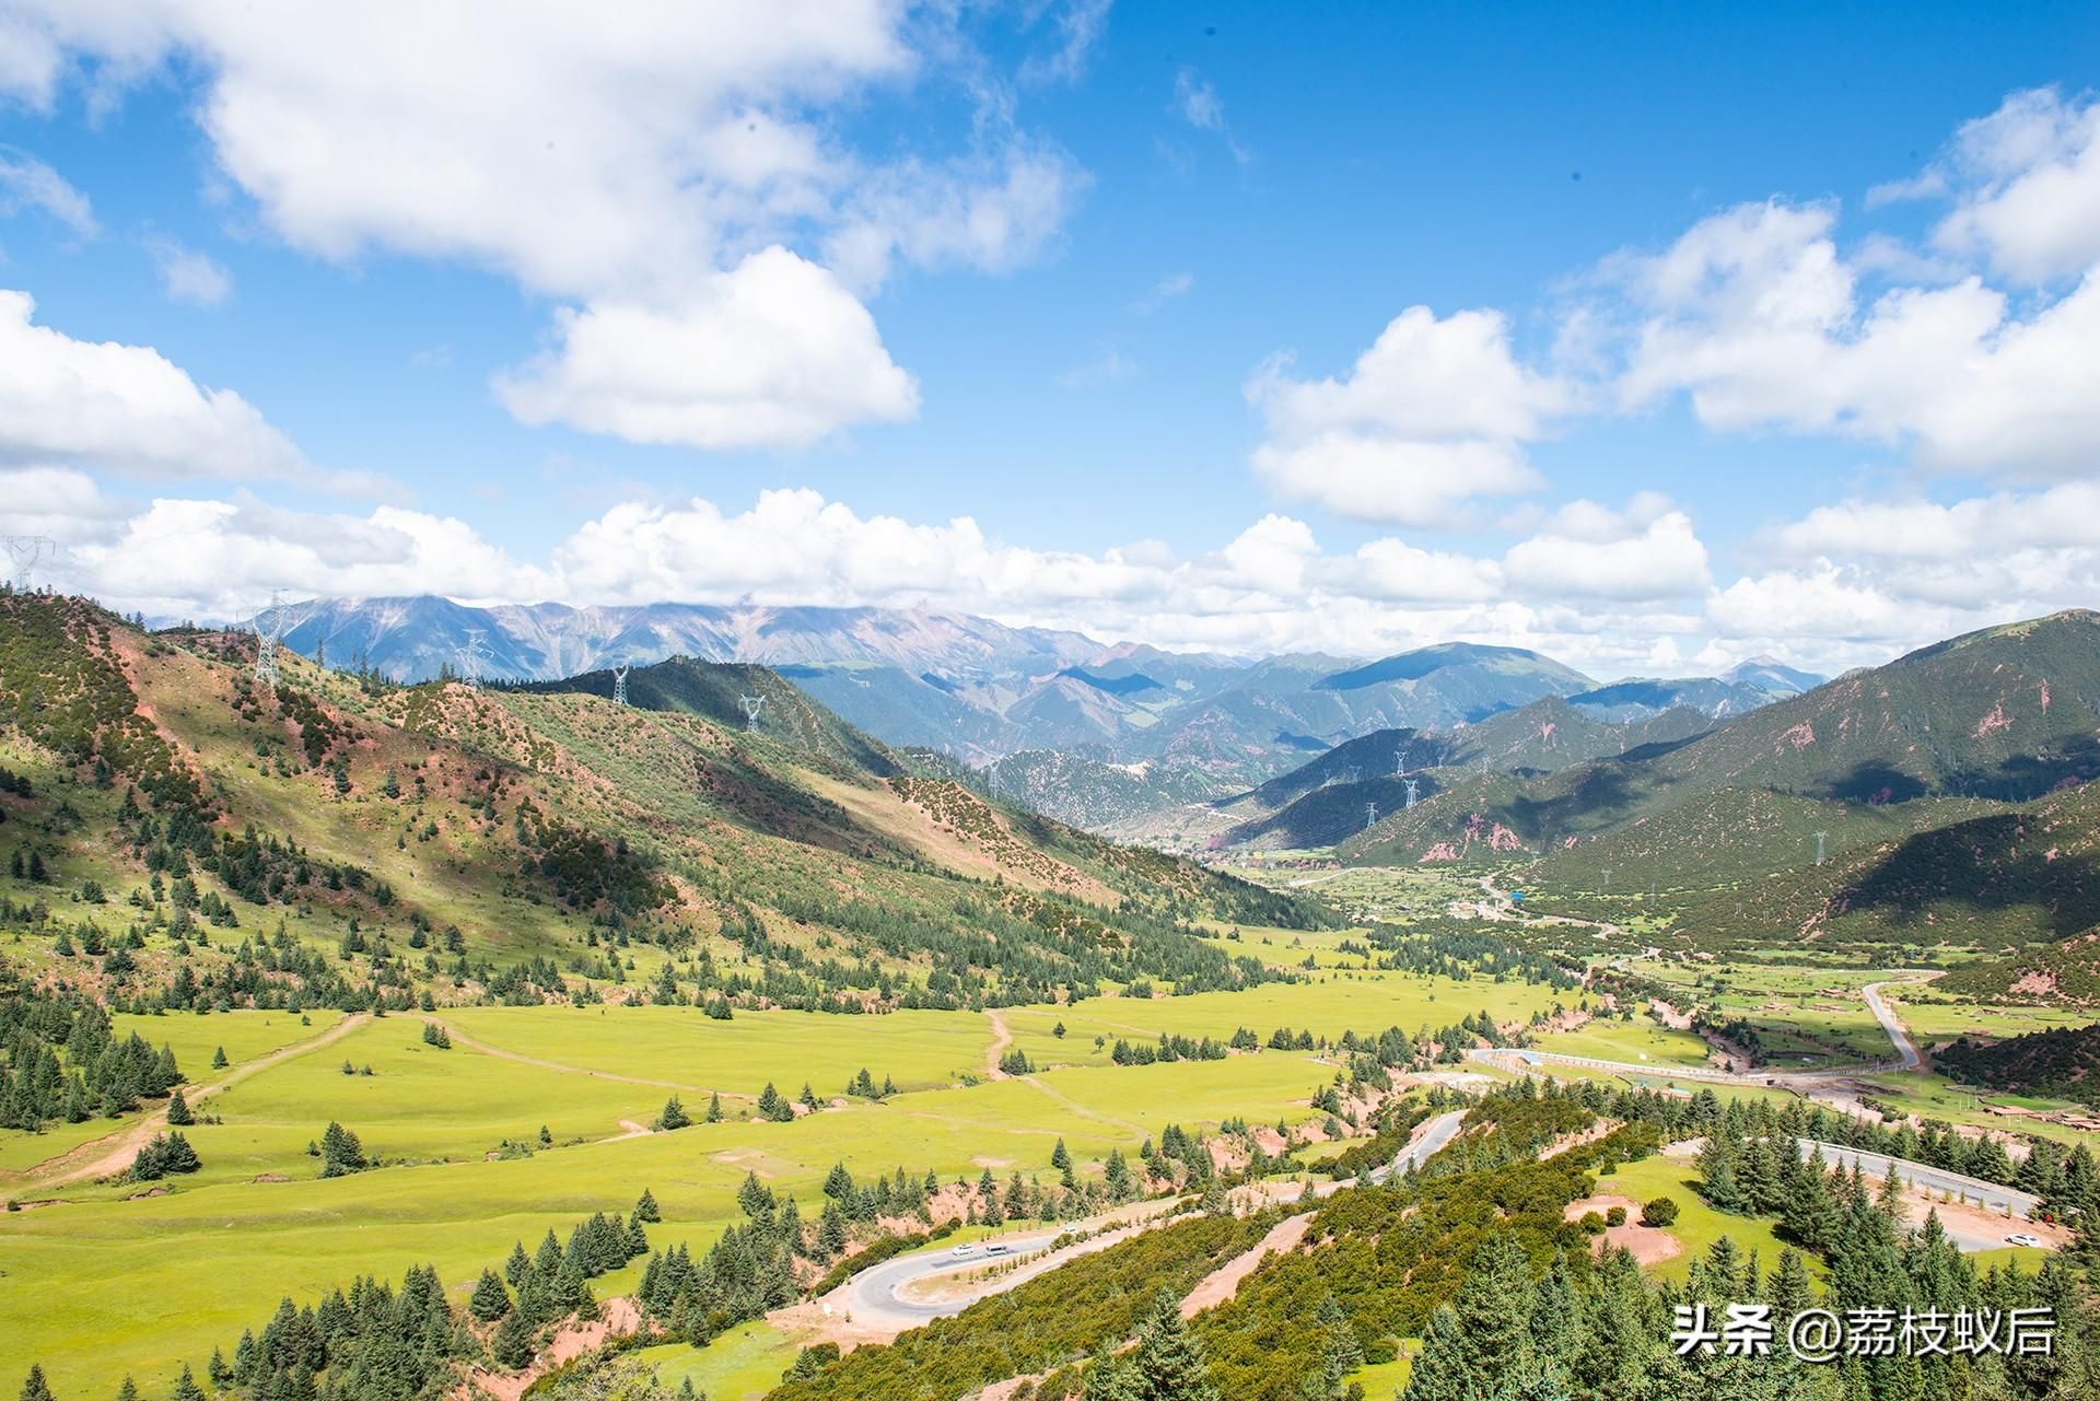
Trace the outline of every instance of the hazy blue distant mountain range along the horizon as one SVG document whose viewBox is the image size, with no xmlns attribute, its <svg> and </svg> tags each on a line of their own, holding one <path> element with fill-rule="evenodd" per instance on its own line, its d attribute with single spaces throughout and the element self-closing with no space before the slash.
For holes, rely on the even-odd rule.
<svg viewBox="0 0 2100 1401">
<path fill-rule="evenodd" d="M 1247 660 L 926 609 L 466 607 L 410 597 L 317 599 L 286 611 L 290 649 L 395 681 L 464 668 L 477 632 L 475 670 L 489 681 L 544 683 L 678 655 L 769 666 L 886 744 L 972 765 L 1084 752 L 1086 760 L 1037 760 L 1033 779 L 1029 765 L 1012 771 L 1014 796 L 1073 821 L 1237 792 L 1361 735 L 1447 733 L 1539 699 L 1623 725 L 1682 708 L 1741 714 L 1819 681 L 1760 657 L 1726 676 L 1598 687 L 1535 651 L 1476 643 L 1369 664 L 1319 653 Z M 1073 783 L 1082 792 L 1065 800 Z M 1119 796 L 1107 798 L 1107 788 Z"/>
</svg>

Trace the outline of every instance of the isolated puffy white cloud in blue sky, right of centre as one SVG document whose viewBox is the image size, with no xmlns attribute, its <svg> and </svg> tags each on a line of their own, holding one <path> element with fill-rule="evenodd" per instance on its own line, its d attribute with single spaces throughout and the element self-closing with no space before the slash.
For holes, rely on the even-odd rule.
<svg viewBox="0 0 2100 1401">
<path fill-rule="evenodd" d="M 1266 439 L 1256 471 L 1329 510 L 1434 525 L 1474 496 L 1541 485 L 1522 445 L 1569 407 L 1564 384 L 1516 363 L 1493 311 L 1396 315 L 1348 378 L 1294 380 L 1289 361 L 1247 382 Z"/>
</svg>

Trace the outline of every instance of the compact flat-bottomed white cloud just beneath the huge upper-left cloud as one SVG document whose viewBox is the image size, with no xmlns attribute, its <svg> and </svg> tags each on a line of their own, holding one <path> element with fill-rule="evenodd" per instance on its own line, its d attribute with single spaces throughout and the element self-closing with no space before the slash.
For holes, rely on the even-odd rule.
<svg viewBox="0 0 2100 1401">
<path fill-rule="evenodd" d="M 498 378 L 529 424 L 569 422 L 636 443 L 796 447 L 840 422 L 895 422 L 918 384 L 876 321 L 815 263 L 754 252 L 676 309 L 563 311 L 561 347 Z"/>
</svg>

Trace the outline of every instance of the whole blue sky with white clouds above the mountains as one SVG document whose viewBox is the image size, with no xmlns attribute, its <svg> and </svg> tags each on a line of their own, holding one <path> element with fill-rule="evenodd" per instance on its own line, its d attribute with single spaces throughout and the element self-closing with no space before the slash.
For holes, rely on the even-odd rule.
<svg viewBox="0 0 2100 1401">
<path fill-rule="evenodd" d="M 1596 8 L 0 0 L 0 515 L 1598 674 L 2100 601 L 2100 15 Z"/>
</svg>

